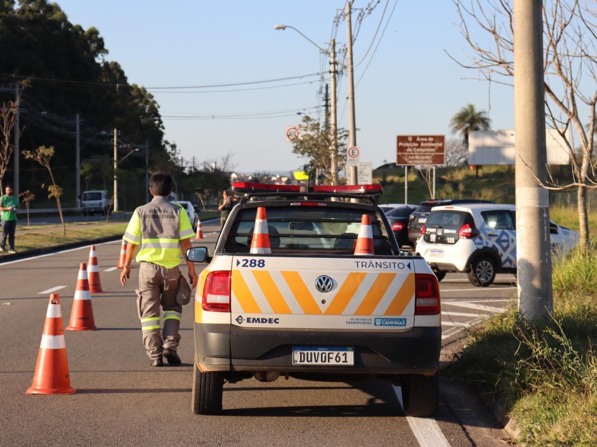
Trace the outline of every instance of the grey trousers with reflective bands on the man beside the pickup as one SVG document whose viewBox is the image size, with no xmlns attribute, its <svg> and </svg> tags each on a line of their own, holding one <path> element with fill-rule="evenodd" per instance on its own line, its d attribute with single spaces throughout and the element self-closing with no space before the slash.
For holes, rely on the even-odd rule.
<svg viewBox="0 0 597 447">
<path fill-rule="evenodd" d="M 167 269 L 152 262 L 141 262 L 137 309 L 143 331 L 143 344 L 149 358 L 162 358 L 168 347 L 176 351 L 180 342 L 180 315 L 183 307 L 176 302 L 180 270 Z M 164 311 L 164 329 L 159 331 L 159 308 Z M 163 338 L 162 338 L 163 335 Z"/>
</svg>

